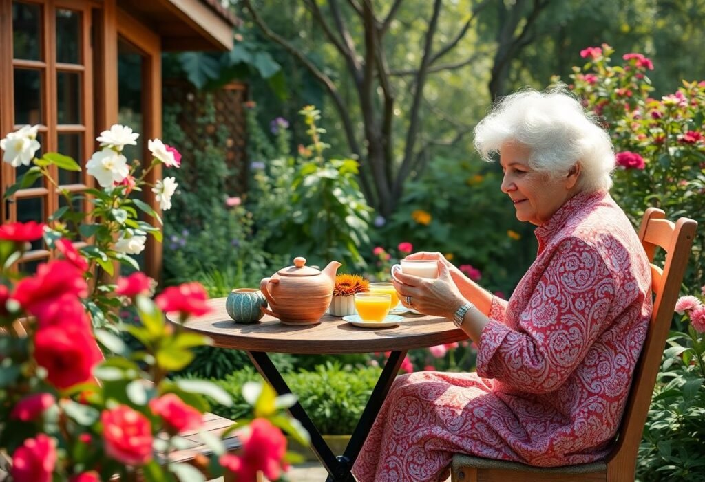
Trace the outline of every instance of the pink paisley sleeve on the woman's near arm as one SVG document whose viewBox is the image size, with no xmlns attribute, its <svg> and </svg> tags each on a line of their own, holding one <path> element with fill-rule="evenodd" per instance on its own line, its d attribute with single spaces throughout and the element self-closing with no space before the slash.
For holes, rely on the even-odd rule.
<svg viewBox="0 0 705 482">
<path fill-rule="evenodd" d="M 597 250 L 569 238 L 519 315 L 514 330 L 491 319 L 480 336 L 477 374 L 530 393 L 560 387 L 609 322 L 615 282 Z"/>
</svg>

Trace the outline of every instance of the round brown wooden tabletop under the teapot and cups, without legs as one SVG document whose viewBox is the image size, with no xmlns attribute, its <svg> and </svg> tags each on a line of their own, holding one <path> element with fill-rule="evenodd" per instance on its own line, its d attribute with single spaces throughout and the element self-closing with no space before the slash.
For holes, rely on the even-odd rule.
<svg viewBox="0 0 705 482">
<path fill-rule="evenodd" d="M 411 313 L 390 328 L 361 328 L 328 314 L 321 317 L 319 324 L 306 326 L 282 324 L 269 315 L 264 315 L 259 323 L 239 324 L 228 316 L 225 301 L 226 298 L 208 300 L 212 312 L 189 319 L 185 329 L 209 336 L 220 348 L 300 355 L 410 350 L 467 339 L 465 332 L 455 328 L 449 319 Z"/>
</svg>

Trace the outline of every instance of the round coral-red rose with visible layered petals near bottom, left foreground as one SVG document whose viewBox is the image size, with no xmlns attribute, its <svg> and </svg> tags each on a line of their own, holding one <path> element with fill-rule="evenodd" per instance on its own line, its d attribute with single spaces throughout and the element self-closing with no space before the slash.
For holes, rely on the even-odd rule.
<svg viewBox="0 0 705 482">
<path fill-rule="evenodd" d="M 140 412 L 126 405 L 100 415 L 106 453 L 127 465 L 144 465 L 152 459 L 152 425 Z"/>
</svg>

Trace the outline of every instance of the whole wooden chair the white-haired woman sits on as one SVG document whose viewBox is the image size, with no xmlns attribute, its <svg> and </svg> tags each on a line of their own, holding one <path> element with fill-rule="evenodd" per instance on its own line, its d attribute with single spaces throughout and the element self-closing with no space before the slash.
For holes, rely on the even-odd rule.
<svg viewBox="0 0 705 482">
<path fill-rule="evenodd" d="M 654 291 L 654 312 L 642 354 L 635 367 L 632 388 L 617 440 L 609 455 L 598 462 L 567 467 L 530 467 L 517 462 L 455 455 L 451 464 L 453 482 L 518 482 L 518 481 L 580 481 L 633 482 L 639 441 L 651 404 L 661 355 L 673 319 L 680 284 L 690 256 L 697 222 L 681 217 L 675 224 L 666 220 L 662 210 L 649 208 L 639 229 L 646 255 L 651 262 L 651 290 Z M 666 263 L 654 265 L 657 247 L 666 251 Z"/>
</svg>

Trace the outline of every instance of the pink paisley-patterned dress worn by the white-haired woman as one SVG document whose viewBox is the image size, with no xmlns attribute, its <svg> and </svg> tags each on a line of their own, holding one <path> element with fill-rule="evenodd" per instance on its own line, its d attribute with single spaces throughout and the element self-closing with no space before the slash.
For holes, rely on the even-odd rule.
<svg viewBox="0 0 705 482">
<path fill-rule="evenodd" d="M 577 194 L 536 236 L 510 300 L 492 301 L 477 374 L 399 376 L 359 481 L 436 481 L 454 453 L 542 467 L 606 455 L 651 316 L 649 264 L 605 192 Z"/>
</svg>

